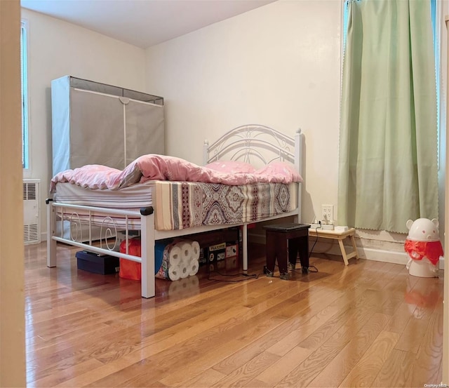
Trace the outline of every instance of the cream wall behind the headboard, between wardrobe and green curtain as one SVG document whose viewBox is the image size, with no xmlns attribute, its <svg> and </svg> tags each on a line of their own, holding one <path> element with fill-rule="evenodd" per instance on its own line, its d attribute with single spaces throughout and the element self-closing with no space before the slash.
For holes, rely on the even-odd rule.
<svg viewBox="0 0 449 388">
<path fill-rule="evenodd" d="M 305 134 L 303 222 L 337 203 L 341 4 L 276 1 L 147 49 L 166 151 L 202 163 L 203 140 L 260 123 Z"/>
</svg>

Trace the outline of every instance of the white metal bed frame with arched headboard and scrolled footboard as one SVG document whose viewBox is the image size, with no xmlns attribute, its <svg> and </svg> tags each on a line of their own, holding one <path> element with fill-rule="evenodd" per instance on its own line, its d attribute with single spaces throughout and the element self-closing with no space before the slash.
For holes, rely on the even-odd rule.
<svg viewBox="0 0 449 388">
<path fill-rule="evenodd" d="M 288 161 L 293 163 L 298 172 L 302 174 L 302 133 L 298 129 L 294 138 L 290 138 L 279 131 L 276 131 L 267 126 L 260 125 L 246 125 L 234 128 L 220 139 L 208 145 L 206 140 L 203 145 L 203 163 L 211 163 L 218 160 L 234 160 L 246 161 L 257 165 L 257 163 L 267 164 L 270 161 Z M 267 220 L 275 220 L 278 218 L 286 218 L 294 216 L 295 222 L 301 222 L 301 189 L 302 185 L 299 183 L 297 187 L 297 208 L 288 213 L 274 215 L 269 218 L 264 218 L 256 222 Z M 140 262 L 142 265 L 142 297 L 154 297 L 155 295 L 155 278 L 154 278 L 154 243 L 156 240 L 169 239 L 176 236 L 187 236 L 189 234 L 196 234 L 201 232 L 208 232 L 227 227 L 241 227 L 242 228 L 242 248 L 243 248 L 243 271 L 248 270 L 248 224 L 254 223 L 243 222 L 238 224 L 226 225 L 203 225 L 201 227 L 191 227 L 180 230 L 163 230 L 159 231 L 154 228 L 154 213 L 153 208 L 140 209 L 137 211 L 119 210 L 111 208 L 98 208 L 93 206 L 77 206 L 65 203 L 54 202 L 53 199 L 47 199 L 47 266 L 56 267 L 56 244 L 57 242 L 66 243 L 72 246 L 77 246 L 83 250 L 88 250 L 93 253 L 104 255 L 111 255 L 115 257 L 122 257 L 135 262 Z M 72 239 L 64 238 L 64 229 L 60 231 L 60 236 L 55 235 L 56 220 L 58 213 L 67 213 L 67 209 L 72 210 L 71 224 L 77 218 L 77 210 L 87 210 L 89 214 L 89 240 L 88 243 L 83 243 Z M 93 246 L 91 239 L 91 227 L 93 222 L 91 220 L 91 213 L 102 213 L 105 215 L 105 224 L 102 227 L 100 246 Z M 125 216 L 125 225 L 128 225 L 128 218 L 140 218 L 140 234 L 141 239 L 141 257 L 129 255 L 126 253 L 119 253 L 114 250 L 114 244 L 111 243 L 112 236 L 116 236 L 118 232 L 114 228 L 113 221 L 111 227 L 111 215 Z M 123 228 L 120 228 L 123 229 Z M 70 234 L 72 236 L 72 234 Z M 144 238 L 145 236 L 145 238 Z M 126 227 L 126 241 L 128 241 L 128 227 Z M 128 244 L 126 244 L 128 246 Z"/>
</svg>

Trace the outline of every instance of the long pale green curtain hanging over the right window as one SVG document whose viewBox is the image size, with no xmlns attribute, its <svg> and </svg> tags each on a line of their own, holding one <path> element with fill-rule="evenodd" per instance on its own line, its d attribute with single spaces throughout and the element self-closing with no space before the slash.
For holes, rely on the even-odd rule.
<svg viewBox="0 0 449 388">
<path fill-rule="evenodd" d="M 407 233 L 438 218 L 428 0 L 352 0 L 344 49 L 338 224 Z"/>
</svg>

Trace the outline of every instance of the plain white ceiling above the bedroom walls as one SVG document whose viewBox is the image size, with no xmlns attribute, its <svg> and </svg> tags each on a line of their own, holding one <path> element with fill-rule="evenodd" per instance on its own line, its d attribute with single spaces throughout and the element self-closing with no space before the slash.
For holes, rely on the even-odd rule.
<svg viewBox="0 0 449 388">
<path fill-rule="evenodd" d="M 21 0 L 21 6 L 148 48 L 273 1 Z"/>
</svg>

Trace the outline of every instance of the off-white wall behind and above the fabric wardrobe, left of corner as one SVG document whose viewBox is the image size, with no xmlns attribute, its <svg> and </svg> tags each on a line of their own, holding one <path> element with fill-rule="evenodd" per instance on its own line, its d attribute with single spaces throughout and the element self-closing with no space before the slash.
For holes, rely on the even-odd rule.
<svg viewBox="0 0 449 388">
<path fill-rule="evenodd" d="M 25 178 L 41 179 L 41 232 L 44 200 L 52 175 L 51 80 L 71 75 L 145 91 L 145 51 L 89 29 L 22 8 L 29 23 L 29 136 L 32 168 Z"/>
</svg>

